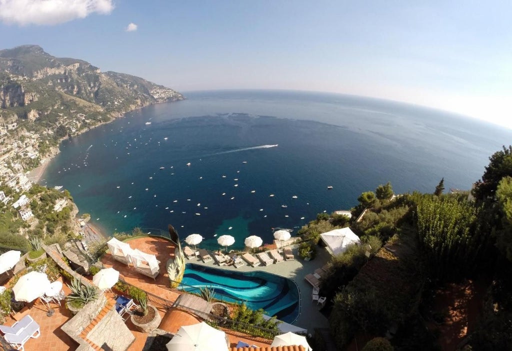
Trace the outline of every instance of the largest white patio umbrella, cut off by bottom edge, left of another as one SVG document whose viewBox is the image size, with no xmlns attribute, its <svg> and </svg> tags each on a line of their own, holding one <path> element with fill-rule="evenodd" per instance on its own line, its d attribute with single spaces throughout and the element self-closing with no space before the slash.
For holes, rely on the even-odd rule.
<svg viewBox="0 0 512 351">
<path fill-rule="evenodd" d="M 168 351 L 227 351 L 226 333 L 201 322 L 185 325 L 165 346 Z"/>
</svg>

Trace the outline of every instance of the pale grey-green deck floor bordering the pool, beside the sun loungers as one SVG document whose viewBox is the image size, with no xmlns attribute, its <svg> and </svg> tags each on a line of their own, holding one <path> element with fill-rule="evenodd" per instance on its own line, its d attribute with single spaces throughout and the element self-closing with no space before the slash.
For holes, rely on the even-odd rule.
<svg viewBox="0 0 512 351">
<path fill-rule="evenodd" d="M 293 325 L 307 329 L 308 333 L 313 333 L 314 328 L 329 327 L 329 321 L 322 313 L 318 311 L 318 305 L 316 301 L 312 301 L 311 292 L 313 287 L 304 279 L 304 277 L 306 274 L 313 273 L 315 269 L 327 264 L 331 258 L 331 255 L 327 252 L 327 250 L 323 248 L 319 248 L 317 250 L 315 259 L 311 261 L 304 261 L 303 259 L 298 258 L 296 249 L 293 250 L 293 254 L 295 255 L 294 260 L 288 260 L 280 262 L 279 264 L 272 264 L 268 266 L 261 265 L 255 268 L 247 264 L 239 268 L 235 268 L 233 266 L 219 266 L 218 264 L 214 263 L 214 261 L 209 261 L 205 264 L 201 259 L 196 257 L 186 259 L 186 262 L 239 272 L 262 271 L 290 278 L 297 284 L 301 298 L 301 312 Z M 322 296 L 322 291 L 320 292 L 320 296 Z"/>
</svg>

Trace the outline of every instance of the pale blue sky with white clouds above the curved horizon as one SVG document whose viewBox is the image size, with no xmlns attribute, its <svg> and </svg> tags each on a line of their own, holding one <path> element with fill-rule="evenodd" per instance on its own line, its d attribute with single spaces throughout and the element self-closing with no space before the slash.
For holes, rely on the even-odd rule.
<svg viewBox="0 0 512 351">
<path fill-rule="evenodd" d="M 180 92 L 323 91 L 512 129 L 512 1 L 0 0 L 0 49 L 37 44 Z"/>
</svg>

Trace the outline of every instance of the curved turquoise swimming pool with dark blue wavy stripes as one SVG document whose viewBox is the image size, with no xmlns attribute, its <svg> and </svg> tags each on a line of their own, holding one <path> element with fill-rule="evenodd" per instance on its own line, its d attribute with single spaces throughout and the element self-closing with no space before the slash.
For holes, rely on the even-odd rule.
<svg viewBox="0 0 512 351">
<path fill-rule="evenodd" d="M 215 298 L 245 302 L 251 310 L 263 309 L 266 315 L 293 323 L 300 312 L 296 283 L 288 278 L 262 271 L 237 272 L 196 264 L 186 264 L 180 287 L 185 291 L 211 288 Z"/>
</svg>

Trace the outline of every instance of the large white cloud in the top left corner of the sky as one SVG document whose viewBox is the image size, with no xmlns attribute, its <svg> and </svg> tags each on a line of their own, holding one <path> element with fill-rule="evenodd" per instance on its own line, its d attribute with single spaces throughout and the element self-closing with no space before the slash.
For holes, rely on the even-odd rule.
<svg viewBox="0 0 512 351">
<path fill-rule="evenodd" d="M 0 0 L 0 21 L 7 24 L 56 25 L 92 13 L 109 14 L 113 0 Z"/>
</svg>

